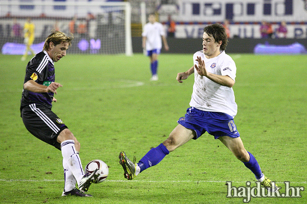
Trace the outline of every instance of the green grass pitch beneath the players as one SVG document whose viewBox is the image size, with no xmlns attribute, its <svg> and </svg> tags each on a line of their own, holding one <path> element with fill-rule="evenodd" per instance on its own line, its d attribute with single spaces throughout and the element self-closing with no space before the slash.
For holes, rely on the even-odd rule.
<svg viewBox="0 0 307 204">
<path fill-rule="evenodd" d="M 237 66 L 234 121 L 245 147 L 277 185 L 306 189 L 307 58 L 230 55 Z M 30 57 L 29 59 L 30 60 Z M 227 198 L 226 181 L 255 186 L 255 177 L 213 136 L 203 135 L 171 152 L 133 181 L 118 162 L 124 150 L 141 157 L 163 142 L 189 108 L 194 75 L 183 84 L 178 72 L 192 55 L 159 56 L 159 81 L 150 82 L 146 56 L 70 55 L 55 63 L 53 111 L 81 143 L 83 167 L 94 159 L 109 176 L 93 184 L 93 197 L 61 197 L 61 152 L 32 136 L 19 112 L 27 62 L 0 55 L 0 203 L 243 203 Z M 251 198 L 250 203 L 307 203 L 300 198 Z"/>
</svg>

